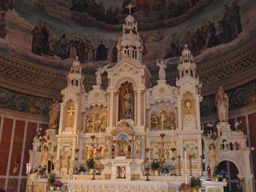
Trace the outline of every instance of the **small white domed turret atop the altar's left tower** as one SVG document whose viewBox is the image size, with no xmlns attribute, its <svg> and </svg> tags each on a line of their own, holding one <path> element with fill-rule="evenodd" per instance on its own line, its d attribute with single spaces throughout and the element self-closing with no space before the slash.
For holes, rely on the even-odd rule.
<svg viewBox="0 0 256 192">
<path fill-rule="evenodd" d="M 71 71 L 67 75 L 68 86 L 82 86 L 84 81 L 84 74 L 82 74 L 82 66 L 76 56 L 76 61 L 73 62 Z"/>
</svg>

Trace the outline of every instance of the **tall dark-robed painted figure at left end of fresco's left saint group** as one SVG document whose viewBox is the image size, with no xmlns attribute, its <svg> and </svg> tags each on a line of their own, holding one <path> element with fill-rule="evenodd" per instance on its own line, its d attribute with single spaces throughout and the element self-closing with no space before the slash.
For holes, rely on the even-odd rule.
<svg viewBox="0 0 256 192">
<path fill-rule="evenodd" d="M 31 52 L 35 55 L 41 55 L 42 53 L 42 43 L 43 43 L 43 35 L 42 35 L 42 21 L 37 20 L 36 26 L 32 30 L 32 48 Z"/>
</svg>

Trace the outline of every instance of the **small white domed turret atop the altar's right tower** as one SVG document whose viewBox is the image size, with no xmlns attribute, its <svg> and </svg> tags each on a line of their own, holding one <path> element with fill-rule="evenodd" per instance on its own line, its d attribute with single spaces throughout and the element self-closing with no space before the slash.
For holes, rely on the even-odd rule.
<svg viewBox="0 0 256 192">
<path fill-rule="evenodd" d="M 180 78 L 190 76 L 196 78 L 196 64 L 193 61 L 193 55 L 188 49 L 188 45 L 185 44 L 185 48 L 182 51 L 182 56 L 180 56 L 180 63 L 177 66 L 179 70 Z"/>
</svg>

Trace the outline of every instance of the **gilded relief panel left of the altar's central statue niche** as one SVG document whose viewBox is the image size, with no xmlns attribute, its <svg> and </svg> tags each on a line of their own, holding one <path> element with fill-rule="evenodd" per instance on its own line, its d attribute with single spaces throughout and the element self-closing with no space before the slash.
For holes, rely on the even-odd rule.
<svg viewBox="0 0 256 192">
<path fill-rule="evenodd" d="M 108 111 L 103 105 L 90 106 L 85 109 L 85 132 L 106 131 Z"/>
</svg>

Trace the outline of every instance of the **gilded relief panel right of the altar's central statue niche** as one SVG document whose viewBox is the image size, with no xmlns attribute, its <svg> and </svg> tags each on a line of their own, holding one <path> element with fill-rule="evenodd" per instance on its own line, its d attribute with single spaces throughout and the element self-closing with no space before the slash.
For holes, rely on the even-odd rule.
<svg viewBox="0 0 256 192">
<path fill-rule="evenodd" d="M 155 102 L 150 105 L 150 131 L 171 130 L 176 128 L 175 103 L 170 101 Z"/>
</svg>

